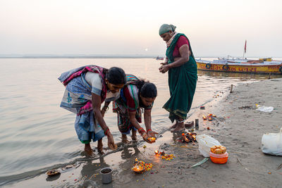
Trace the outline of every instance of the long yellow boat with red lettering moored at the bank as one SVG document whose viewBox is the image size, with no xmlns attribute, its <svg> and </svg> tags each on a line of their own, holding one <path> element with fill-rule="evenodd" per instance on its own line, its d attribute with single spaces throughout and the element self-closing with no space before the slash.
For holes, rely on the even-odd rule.
<svg viewBox="0 0 282 188">
<path fill-rule="evenodd" d="M 272 58 L 219 58 L 214 61 L 196 59 L 198 70 L 223 71 L 231 73 L 282 74 L 282 61 Z"/>
</svg>

